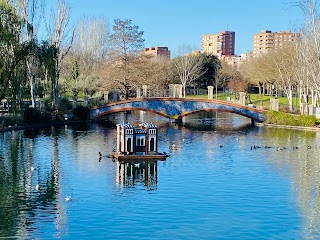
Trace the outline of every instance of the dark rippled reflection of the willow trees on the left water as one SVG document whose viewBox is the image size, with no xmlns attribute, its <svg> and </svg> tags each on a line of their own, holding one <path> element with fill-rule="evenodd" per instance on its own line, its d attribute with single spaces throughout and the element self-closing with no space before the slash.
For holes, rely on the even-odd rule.
<svg viewBox="0 0 320 240">
<path fill-rule="evenodd" d="M 55 128 L 50 128 L 53 153 L 49 167 L 34 162 L 35 145 L 48 130 L 16 131 L 1 134 L 0 144 L 0 236 L 28 236 L 37 229 L 35 219 L 45 215 L 55 222 L 63 216 L 58 206 L 59 153 Z M 38 190 L 36 185 L 39 185 Z M 52 219 L 50 219 L 52 218 Z"/>
</svg>

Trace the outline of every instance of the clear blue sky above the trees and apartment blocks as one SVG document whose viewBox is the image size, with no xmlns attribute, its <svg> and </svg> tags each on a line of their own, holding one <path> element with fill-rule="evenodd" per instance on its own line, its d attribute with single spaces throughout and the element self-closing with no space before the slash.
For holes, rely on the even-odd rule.
<svg viewBox="0 0 320 240">
<path fill-rule="evenodd" d="M 295 0 L 297 1 L 297 0 Z M 201 48 L 201 35 L 229 30 L 236 54 L 252 50 L 252 34 L 261 30 L 296 31 L 303 15 L 293 0 L 69 0 L 72 22 L 82 16 L 131 19 L 144 31 L 145 47 Z"/>
</svg>

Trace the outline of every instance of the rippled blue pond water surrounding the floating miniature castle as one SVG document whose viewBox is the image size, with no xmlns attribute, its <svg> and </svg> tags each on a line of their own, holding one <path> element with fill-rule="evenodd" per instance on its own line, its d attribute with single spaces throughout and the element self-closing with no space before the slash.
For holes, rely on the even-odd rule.
<svg viewBox="0 0 320 240">
<path fill-rule="evenodd" d="M 98 124 L 0 133 L 0 238 L 320 238 L 320 132 L 232 114 L 128 120 L 156 123 L 170 157 L 99 160 L 116 131 Z"/>
</svg>

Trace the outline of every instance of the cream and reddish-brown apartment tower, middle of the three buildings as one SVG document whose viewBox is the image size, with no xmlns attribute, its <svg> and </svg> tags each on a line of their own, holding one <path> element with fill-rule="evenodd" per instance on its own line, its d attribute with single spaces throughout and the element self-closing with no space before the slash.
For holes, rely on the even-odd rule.
<svg viewBox="0 0 320 240">
<path fill-rule="evenodd" d="M 235 32 L 224 31 L 217 34 L 202 35 L 201 51 L 218 57 L 234 55 Z"/>
</svg>

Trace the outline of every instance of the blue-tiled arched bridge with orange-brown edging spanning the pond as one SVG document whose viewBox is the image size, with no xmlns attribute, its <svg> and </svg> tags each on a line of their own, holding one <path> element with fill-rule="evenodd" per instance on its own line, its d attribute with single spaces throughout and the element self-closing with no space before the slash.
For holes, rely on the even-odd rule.
<svg viewBox="0 0 320 240">
<path fill-rule="evenodd" d="M 95 107 L 90 112 L 91 119 L 101 118 L 104 115 L 129 110 L 143 110 L 154 112 L 171 119 L 182 117 L 198 112 L 231 112 L 248 118 L 255 122 L 263 122 L 265 116 L 263 110 L 239 104 L 200 98 L 136 98 L 119 102 L 109 103 L 104 106 Z"/>
</svg>

